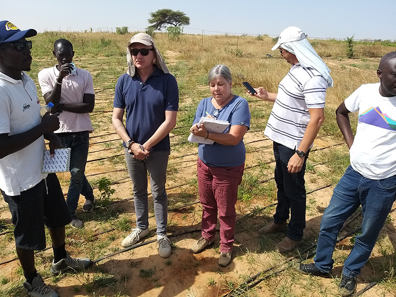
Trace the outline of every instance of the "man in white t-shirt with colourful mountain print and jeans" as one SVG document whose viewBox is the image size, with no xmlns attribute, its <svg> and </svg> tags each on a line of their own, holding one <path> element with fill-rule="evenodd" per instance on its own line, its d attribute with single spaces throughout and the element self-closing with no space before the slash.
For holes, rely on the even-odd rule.
<svg viewBox="0 0 396 297">
<path fill-rule="evenodd" d="M 356 236 L 344 262 L 342 296 L 354 293 L 356 276 L 370 257 L 396 198 L 396 51 L 382 57 L 377 75 L 379 83 L 362 85 L 336 111 L 350 166 L 323 214 L 314 263 L 297 266 L 302 273 L 329 276 L 341 227 L 361 205 L 362 234 Z M 356 111 L 359 119 L 353 137 L 348 114 Z"/>
</svg>

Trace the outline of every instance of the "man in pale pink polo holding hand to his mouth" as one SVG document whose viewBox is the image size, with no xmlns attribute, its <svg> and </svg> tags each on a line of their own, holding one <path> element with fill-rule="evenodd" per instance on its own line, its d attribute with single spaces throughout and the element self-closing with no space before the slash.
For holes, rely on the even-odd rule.
<svg viewBox="0 0 396 297">
<path fill-rule="evenodd" d="M 87 70 L 72 64 L 73 45 L 66 39 L 55 41 L 52 51 L 58 64 L 39 72 L 39 84 L 46 99 L 52 102 L 52 110 L 59 114 L 60 127 L 55 134 L 63 148 L 71 148 L 70 186 L 66 203 L 72 217 L 70 225 L 82 227 L 76 216 L 80 194 L 85 197 L 83 211 L 90 212 L 95 202 L 92 187 L 85 176 L 89 148 L 89 133 L 92 132 L 90 112 L 95 106 L 95 92 L 92 75 Z"/>
</svg>

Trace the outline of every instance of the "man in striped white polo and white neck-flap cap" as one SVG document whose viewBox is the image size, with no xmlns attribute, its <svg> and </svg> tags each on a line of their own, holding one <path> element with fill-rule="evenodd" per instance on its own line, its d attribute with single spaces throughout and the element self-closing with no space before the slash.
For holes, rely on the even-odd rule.
<svg viewBox="0 0 396 297">
<path fill-rule="evenodd" d="M 303 236 L 305 163 L 324 120 L 326 89 L 333 86 L 329 68 L 306 37 L 297 27 L 282 31 L 272 50 L 279 49 L 292 67 L 279 83 L 278 93 L 260 87 L 254 95 L 274 102 L 264 134 L 274 142 L 278 204 L 273 222 L 258 232 L 270 234 L 287 229 L 286 237 L 276 245 L 279 252 L 290 251 Z"/>
</svg>

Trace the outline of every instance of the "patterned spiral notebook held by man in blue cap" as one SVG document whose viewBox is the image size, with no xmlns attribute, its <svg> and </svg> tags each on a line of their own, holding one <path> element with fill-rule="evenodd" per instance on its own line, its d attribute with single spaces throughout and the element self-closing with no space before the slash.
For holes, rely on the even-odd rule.
<svg viewBox="0 0 396 297">
<path fill-rule="evenodd" d="M 53 157 L 49 150 L 44 151 L 43 173 L 64 172 L 70 170 L 71 148 L 55 148 Z"/>
</svg>

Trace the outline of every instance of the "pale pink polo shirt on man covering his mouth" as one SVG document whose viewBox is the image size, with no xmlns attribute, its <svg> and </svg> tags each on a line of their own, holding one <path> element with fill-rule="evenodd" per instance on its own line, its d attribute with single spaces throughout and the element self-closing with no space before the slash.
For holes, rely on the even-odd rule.
<svg viewBox="0 0 396 297">
<path fill-rule="evenodd" d="M 56 65 L 39 72 L 39 84 L 43 96 L 52 92 L 59 75 Z M 89 71 L 76 68 L 76 75 L 63 78 L 59 103 L 83 103 L 84 94 L 95 94 L 92 75 Z M 59 114 L 59 129 L 55 133 L 92 131 L 89 113 L 63 111 Z"/>
</svg>

